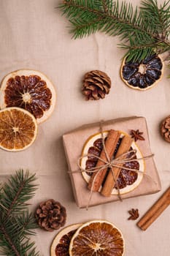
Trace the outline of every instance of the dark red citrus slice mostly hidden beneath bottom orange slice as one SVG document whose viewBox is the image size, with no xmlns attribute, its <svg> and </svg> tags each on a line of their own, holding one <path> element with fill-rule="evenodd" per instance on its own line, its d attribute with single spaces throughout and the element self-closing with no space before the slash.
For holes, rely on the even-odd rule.
<svg viewBox="0 0 170 256">
<path fill-rule="evenodd" d="M 50 248 L 50 256 L 69 256 L 69 244 L 77 228 L 82 224 L 74 224 L 63 228 L 55 236 Z"/>
</svg>

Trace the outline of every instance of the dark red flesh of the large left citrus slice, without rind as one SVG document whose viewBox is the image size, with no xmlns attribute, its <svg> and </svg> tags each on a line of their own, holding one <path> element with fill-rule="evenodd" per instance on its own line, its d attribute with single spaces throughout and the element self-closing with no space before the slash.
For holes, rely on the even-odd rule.
<svg viewBox="0 0 170 256">
<path fill-rule="evenodd" d="M 41 118 L 44 111 L 49 110 L 52 98 L 45 80 L 38 75 L 9 78 L 4 94 L 7 107 L 24 108 L 36 118 Z"/>
</svg>

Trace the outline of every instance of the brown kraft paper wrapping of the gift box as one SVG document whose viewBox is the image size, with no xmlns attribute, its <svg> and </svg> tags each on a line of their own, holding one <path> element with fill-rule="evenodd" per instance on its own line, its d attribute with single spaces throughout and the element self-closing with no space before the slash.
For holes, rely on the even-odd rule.
<svg viewBox="0 0 170 256">
<path fill-rule="evenodd" d="M 131 129 L 139 129 L 143 133 L 145 140 L 137 140 L 137 144 L 142 151 L 142 155 L 148 156 L 154 152 L 150 150 L 150 141 L 147 131 L 147 122 L 144 117 L 128 117 L 128 118 L 117 118 L 102 123 L 103 130 L 117 129 L 126 133 L 130 133 Z M 66 153 L 67 163 L 69 170 L 78 170 L 77 159 L 81 156 L 82 148 L 85 141 L 93 134 L 100 132 L 100 124 L 86 124 L 80 128 L 72 130 L 63 135 L 63 146 Z M 158 171 L 155 167 L 155 162 L 152 157 L 145 159 L 145 173 L 142 178 L 142 182 L 136 189 L 121 195 L 122 199 L 128 197 L 136 197 L 139 195 L 149 195 L 161 190 L 161 181 L 158 176 Z M 150 178 L 148 178 L 150 176 Z M 72 181 L 72 188 L 74 192 L 74 198 L 77 206 L 85 208 L 88 206 L 90 197 L 90 190 L 87 188 L 88 184 L 82 177 L 82 173 L 70 173 Z M 112 201 L 119 200 L 117 195 L 111 195 L 110 197 L 104 197 L 98 192 L 93 192 L 89 206 L 96 206 L 102 203 L 109 203 Z"/>
</svg>

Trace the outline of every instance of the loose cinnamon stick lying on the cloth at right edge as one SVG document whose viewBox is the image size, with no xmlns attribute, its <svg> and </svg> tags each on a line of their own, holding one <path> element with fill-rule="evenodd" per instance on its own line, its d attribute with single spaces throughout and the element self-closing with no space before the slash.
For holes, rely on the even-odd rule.
<svg viewBox="0 0 170 256">
<path fill-rule="evenodd" d="M 170 187 L 163 193 L 157 202 L 147 211 L 146 214 L 139 220 L 137 226 L 142 230 L 147 230 L 147 227 L 155 222 L 155 220 L 163 213 L 170 205 Z"/>
</svg>

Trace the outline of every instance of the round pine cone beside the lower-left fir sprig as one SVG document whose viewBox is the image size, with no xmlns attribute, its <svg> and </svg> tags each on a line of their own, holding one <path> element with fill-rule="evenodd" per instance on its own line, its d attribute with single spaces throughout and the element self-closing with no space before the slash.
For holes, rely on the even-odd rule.
<svg viewBox="0 0 170 256">
<path fill-rule="evenodd" d="M 66 223 L 66 208 L 61 206 L 61 203 L 49 199 L 39 204 L 35 217 L 39 226 L 45 230 L 58 230 Z"/>
</svg>

